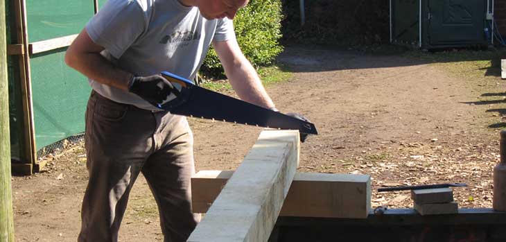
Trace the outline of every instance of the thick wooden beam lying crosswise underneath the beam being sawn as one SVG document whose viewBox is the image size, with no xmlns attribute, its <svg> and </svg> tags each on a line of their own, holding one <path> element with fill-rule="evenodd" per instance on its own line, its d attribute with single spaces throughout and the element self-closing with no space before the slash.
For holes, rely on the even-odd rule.
<svg viewBox="0 0 506 242">
<path fill-rule="evenodd" d="M 234 171 L 199 171 L 191 178 L 192 208 L 206 213 Z M 367 218 L 369 175 L 295 173 L 279 216 Z"/>
</svg>

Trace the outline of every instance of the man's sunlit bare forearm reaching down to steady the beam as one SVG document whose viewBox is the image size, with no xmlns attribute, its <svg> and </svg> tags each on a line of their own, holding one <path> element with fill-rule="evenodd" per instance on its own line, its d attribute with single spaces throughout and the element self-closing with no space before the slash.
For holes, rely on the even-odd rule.
<svg viewBox="0 0 506 242">
<path fill-rule="evenodd" d="M 213 42 L 232 88 L 239 98 L 248 103 L 272 108 L 274 103 L 265 92 L 259 75 L 249 60 L 245 58 L 236 40 Z"/>
</svg>

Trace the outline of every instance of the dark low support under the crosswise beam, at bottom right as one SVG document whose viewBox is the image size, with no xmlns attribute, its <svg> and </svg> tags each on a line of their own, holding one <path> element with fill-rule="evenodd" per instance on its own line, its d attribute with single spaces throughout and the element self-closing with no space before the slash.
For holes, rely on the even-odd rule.
<svg viewBox="0 0 506 242">
<path fill-rule="evenodd" d="M 414 209 L 387 209 L 364 219 L 279 217 L 270 242 L 504 242 L 505 225 L 506 213 L 492 209 L 433 216 L 421 216 Z"/>
</svg>

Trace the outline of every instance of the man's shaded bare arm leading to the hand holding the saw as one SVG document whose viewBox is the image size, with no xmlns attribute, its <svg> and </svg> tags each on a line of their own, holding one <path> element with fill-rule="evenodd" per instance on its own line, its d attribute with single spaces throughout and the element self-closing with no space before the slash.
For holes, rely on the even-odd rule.
<svg viewBox="0 0 506 242">
<path fill-rule="evenodd" d="M 103 49 L 102 46 L 95 44 L 86 29 L 83 29 L 67 49 L 65 63 L 99 83 L 128 91 L 128 84 L 133 75 L 114 67 L 100 54 Z"/>
</svg>

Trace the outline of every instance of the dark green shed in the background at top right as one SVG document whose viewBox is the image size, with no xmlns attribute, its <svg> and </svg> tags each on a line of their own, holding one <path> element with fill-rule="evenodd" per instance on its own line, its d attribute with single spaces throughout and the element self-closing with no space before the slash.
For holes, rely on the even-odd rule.
<svg viewBox="0 0 506 242">
<path fill-rule="evenodd" d="M 422 49 L 493 44 L 494 0 L 390 0 L 390 42 Z"/>
</svg>

